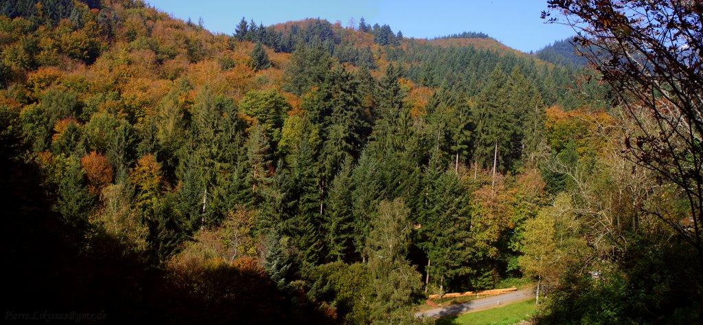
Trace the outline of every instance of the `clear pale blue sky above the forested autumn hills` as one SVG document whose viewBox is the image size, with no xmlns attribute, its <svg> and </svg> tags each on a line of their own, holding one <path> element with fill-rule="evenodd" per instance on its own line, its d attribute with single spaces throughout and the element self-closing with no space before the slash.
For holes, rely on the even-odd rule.
<svg viewBox="0 0 703 325">
<path fill-rule="evenodd" d="M 305 18 L 339 21 L 347 26 L 363 17 L 373 25 L 387 24 L 405 37 L 432 38 L 460 32 L 484 32 L 520 51 L 536 51 L 574 32 L 562 25 L 544 24 L 537 0 L 146 0 L 155 8 L 194 23 L 202 18 L 212 32 L 232 34 L 244 16 L 247 21 L 273 25 Z"/>
</svg>

